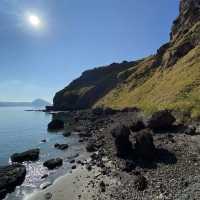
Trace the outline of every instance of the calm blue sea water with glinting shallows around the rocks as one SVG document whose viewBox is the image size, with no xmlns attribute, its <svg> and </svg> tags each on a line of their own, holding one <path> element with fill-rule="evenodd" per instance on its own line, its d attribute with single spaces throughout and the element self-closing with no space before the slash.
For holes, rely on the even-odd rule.
<svg viewBox="0 0 200 200">
<path fill-rule="evenodd" d="M 27 193 L 38 189 L 44 182 L 53 182 L 58 176 L 71 169 L 69 161 L 83 151 L 78 143 L 78 136 L 64 138 L 62 133 L 49 133 L 47 124 L 52 116 L 43 112 L 27 112 L 27 108 L 0 108 L 0 165 L 7 165 L 9 157 L 15 152 L 22 152 L 31 148 L 40 148 L 40 159 L 37 162 L 24 163 L 27 168 L 26 180 L 16 191 L 8 195 L 8 200 L 22 200 Z M 30 108 L 29 108 L 30 109 Z M 41 140 L 46 139 L 46 143 Z M 56 150 L 55 143 L 67 143 L 66 151 Z M 43 162 L 50 158 L 61 157 L 64 165 L 53 171 L 43 167 Z M 48 174 L 46 180 L 41 177 Z"/>
</svg>

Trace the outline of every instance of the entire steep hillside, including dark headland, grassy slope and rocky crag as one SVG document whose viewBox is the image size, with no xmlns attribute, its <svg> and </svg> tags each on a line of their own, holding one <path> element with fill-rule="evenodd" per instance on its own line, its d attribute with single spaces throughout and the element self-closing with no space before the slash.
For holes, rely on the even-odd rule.
<svg viewBox="0 0 200 200">
<path fill-rule="evenodd" d="M 138 106 L 200 116 L 200 0 L 181 0 L 170 41 L 155 55 L 84 72 L 54 97 L 54 109 Z"/>
</svg>

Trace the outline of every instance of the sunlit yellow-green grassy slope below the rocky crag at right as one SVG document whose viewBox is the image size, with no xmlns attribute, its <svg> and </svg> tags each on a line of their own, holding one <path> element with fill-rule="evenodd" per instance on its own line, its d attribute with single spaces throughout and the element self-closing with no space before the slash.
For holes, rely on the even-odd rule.
<svg viewBox="0 0 200 200">
<path fill-rule="evenodd" d="M 138 66 L 138 71 L 140 69 Z M 114 108 L 139 106 L 150 112 L 175 108 L 190 110 L 193 115 L 200 114 L 200 46 L 191 50 L 174 66 L 148 73 L 146 79 L 135 78 L 139 76 L 138 71 L 128 78 L 126 84 L 110 91 L 95 105 Z"/>
</svg>

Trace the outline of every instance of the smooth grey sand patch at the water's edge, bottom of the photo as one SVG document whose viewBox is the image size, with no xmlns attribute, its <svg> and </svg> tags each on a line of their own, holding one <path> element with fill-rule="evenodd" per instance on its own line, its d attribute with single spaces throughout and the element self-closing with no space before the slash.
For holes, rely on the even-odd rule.
<svg viewBox="0 0 200 200">
<path fill-rule="evenodd" d="M 88 171 L 81 166 L 72 173 L 58 178 L 48 188 L 35 191 L 23 200 L 93 200 L 99 195 L 105 195 L 101 193 L 99 187 L 102 180 L 105 183 L 110 182 L 107 177 L 101 175 L 98 168 Z"/>
</svg>

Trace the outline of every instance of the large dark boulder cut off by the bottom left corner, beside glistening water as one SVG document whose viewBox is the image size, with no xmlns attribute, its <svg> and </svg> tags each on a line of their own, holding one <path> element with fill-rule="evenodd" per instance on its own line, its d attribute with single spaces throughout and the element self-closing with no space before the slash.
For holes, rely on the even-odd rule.
<svg viewBox="0 0 200 200">
<path fill-rule="evenodd" d="M 24 182 L 26 167 L 20 164 L 0 167 L 0 199 L 13 192 L 16 186 Z"/>
</svg>

